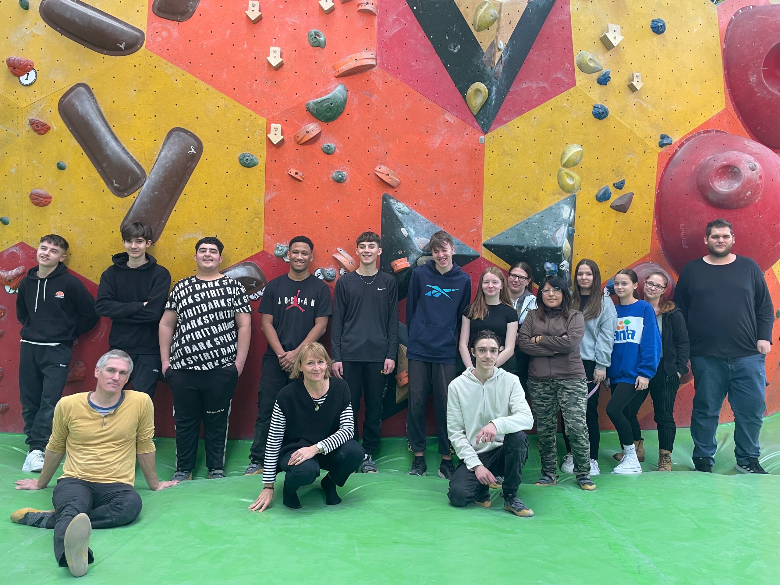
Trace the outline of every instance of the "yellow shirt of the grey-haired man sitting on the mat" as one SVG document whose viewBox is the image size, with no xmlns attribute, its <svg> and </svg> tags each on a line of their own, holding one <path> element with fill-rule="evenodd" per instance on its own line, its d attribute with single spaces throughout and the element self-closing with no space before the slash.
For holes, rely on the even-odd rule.
<svg viewBox="0 0 780 585">
<path fill-rule="evenodd" d="M 104 417 L 88 396 L 80 392 L 57 402 L 46 449 L 66 454 L 61 477 L 133 485 L 136 455 L 154 452 L 151 398 L 126 390 L 122 403 Z"/>
</svg>

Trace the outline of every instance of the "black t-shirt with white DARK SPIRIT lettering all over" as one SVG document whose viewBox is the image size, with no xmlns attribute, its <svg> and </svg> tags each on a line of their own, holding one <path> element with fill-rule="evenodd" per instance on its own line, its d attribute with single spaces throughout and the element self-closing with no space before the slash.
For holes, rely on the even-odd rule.
<svg viewBox="0 0 780 585">
<path fill-rule="evenodd" d="M 183 278 L 173 287 L 165 309 L 176 311 L 174 370 L 215 370 L 236 361 L 236 313 L 252 312 L 243 284 L 229 276 Z"/>
</svg>

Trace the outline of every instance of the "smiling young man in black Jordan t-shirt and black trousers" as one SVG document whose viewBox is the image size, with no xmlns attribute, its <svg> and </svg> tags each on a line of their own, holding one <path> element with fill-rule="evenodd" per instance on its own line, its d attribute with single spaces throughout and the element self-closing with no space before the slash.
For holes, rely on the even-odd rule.
<svg viewBox="0 0 780 585">
<path fill-rule="evenodd" d="M 263 472 L 265 444 L 271 428 L 271 414 L 279 390 L 290 383 L 298 349 L 316 342 L 328 328 L 331 316 L 331 292 L 323 281 L 310 274 L 314 243 L 306 236 L 290 240 L 287 259 L 289 272 L 265 285 L 257 312 L 262 314 L 261 331 L 268 341 L 263 356 L 260 386 L 257 389 L 257 419 L 250 464 L 244 475 Z"/>
</svg>

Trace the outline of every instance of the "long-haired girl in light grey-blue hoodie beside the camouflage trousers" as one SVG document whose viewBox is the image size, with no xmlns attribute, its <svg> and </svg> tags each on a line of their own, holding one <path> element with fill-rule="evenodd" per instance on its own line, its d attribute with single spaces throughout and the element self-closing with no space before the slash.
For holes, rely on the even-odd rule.
<svg viewBox="0 0 780 585">
<path fill-rule="evenodd" d="M 598 467 L 598 448 L 601 433 L 598 427 L 598 395 L 605 385 L 607 368 L 612 359 L 612 340 L 615 334 L 615 324 L 618 314 L 615 303 L 601 292 L 601 271 L 598 264 L 583 258 L 574 270 L 574 292 L 572 308 L 582 311 L 585 319 L 585 335 L 580 343 L 580 357 L 585 367 L 587 379 L 587 432 L 590 438 L 590 475 L 601 473 Z M 563 441 L 566 443 L 566 457 L 563 458 L 561 471 L 574 473 L 572 446 L 566 427 L 562 427 Z"/>
</svg>

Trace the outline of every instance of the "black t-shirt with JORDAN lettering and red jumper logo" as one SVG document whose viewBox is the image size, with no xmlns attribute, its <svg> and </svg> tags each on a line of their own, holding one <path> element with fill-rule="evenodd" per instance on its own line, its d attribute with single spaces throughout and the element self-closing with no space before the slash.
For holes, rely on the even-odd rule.
<svg viewBox="0 0 780 585">
<path fill-rule="evenodd" d="M 257 312 L 274 317 L 276 335 L 282 349 L 289 352 L 306 339 L 314 328 L 314 319 L 330 317 L 331 292 L 328 285 L 314 275 L 301 281 L 293 280 L 289 275 L 278 276 L 265 285 Z M 265 355 L 276 356 L 270 344 Z"/>
</svg>

